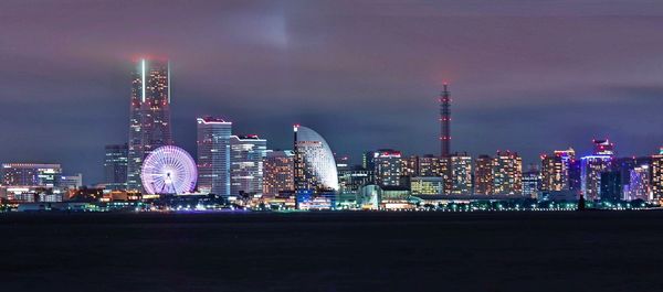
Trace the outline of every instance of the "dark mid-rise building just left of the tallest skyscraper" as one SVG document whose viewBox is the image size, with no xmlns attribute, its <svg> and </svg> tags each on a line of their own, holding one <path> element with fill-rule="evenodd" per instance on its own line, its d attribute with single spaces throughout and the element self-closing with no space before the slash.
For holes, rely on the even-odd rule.
<svg viewBox="0 0 663 292">
<path fill-rule="evenodd" d="M 106 190 L 127 190 L 127 161 L 128 145 L 106 145 L 104 155 L 104 183 Z"/>
</svg>

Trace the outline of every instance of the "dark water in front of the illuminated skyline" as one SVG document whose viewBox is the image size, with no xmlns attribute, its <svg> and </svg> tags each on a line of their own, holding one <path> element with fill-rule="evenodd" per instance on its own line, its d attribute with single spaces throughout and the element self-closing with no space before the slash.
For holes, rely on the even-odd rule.
<svg viewBox="0 0 663 292">
<path fill-rule="evenodd" d="M 663 291 L 663 212 L 0 214 L 0 291 Z"/>
</svg>

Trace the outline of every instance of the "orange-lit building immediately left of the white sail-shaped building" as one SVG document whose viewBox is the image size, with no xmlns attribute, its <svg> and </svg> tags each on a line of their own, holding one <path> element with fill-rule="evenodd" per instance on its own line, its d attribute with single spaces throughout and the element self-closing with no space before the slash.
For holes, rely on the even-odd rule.
<svg viewBox="0 0 663 292">
<path fill-rule="evenodd" d="M 294 155 L 292 150 L 270 151 L 263 160 L 263 195 L 276 197 L 294 192 Z"/>
</svg>

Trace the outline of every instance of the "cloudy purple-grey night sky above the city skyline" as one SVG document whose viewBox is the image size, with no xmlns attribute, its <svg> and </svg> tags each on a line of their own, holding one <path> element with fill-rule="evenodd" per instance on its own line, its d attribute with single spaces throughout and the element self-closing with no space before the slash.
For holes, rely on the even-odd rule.
<svg viewBox="0 0 663 292">
<path fill-rule="evenodd" d="M 192 154 L 202 115 L 272 149 L 302 123 L 357 163 L 376 148 L 439 153 L 443 82 L 453 151 L 533 163 L 608 137 L 621 155 L 651 154 L 662 32 L 663 2 L 649 0 L 2 0 L 0 161 L 99 182 L 104 145 L 127 141 L 140 56 L 171 61 L 173 134 Z"/>
</svg>

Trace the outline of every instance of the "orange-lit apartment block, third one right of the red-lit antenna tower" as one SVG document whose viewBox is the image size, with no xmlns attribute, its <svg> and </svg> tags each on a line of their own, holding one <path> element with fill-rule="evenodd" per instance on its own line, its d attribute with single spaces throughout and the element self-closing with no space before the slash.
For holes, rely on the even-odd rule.
<svg viewBox="0 0 663 292">
<path fill-rule="evenodd" d="M 523 194 L 523 159 L 515 152 L 497 152 L 493 160 L 493 188 L 497 195 Z"/>
</svg>

